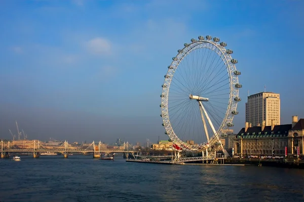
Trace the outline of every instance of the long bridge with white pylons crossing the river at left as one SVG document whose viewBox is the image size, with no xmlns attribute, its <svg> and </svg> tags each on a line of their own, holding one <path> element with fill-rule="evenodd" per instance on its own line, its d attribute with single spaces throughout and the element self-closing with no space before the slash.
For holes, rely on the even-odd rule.
<svg viewBox="0 0 304 202">
<path fill-rule="evenodd" d="M 26 146 L 21 147 L 22 148 L 20 148 L 20 146 L 13 145 L 13 143 L 10 141 L 4 142 L 1 140 L 1 158 L 9 158 L 10 153 L 32 153 L 34 158 L 39 158 L 41 153 L 47 152 L 62 153 L 64 158 L 67 158 L 68 154 L 72 153 L 92 153 L 93 158 L 100 158 L 102 153 L 135 153 L 135 150 L 130 148 L 128 142 L 124 143 L 123 146 L 118 146 L 118 148 L 108 148 L 108 145 L 102 143 L 101 141 L 99 141 L 98 144 L 95 144 L 95 141 L 93 141 L 88 147 L 80 148 L 69 144 L 66 140 L 62 145 L 59 146 L 46 146 L 42 145 L 39 140 L 33 140 Z"/>
</svg>

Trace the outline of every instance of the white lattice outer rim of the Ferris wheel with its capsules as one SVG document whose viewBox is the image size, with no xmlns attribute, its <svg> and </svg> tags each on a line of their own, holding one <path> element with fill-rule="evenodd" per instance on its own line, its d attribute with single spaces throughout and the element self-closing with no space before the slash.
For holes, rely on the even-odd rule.
<svg viewBox="0 0 304 202">
<path fill-rule="evenodd" d="M 191 145 L 183 142 L 174 132 L 172 125 L 170 123 L 170 117 L 168 112 L 168 97 L 169 97 L 169 90 L 170 90 L 170 84 L 174 77 L 174 73 L 176 69 L 178 68 L 180 62 L 192 51 L 198 48 L 204 48 L 203 46 L 200 46 L 201 44 L 211 44 L 212 49 L 210 47 L 207 47 L 211 49 L 213 52 L 215 52 L 224 62 L 225 68 L 229 74 L 229 83 L 230 83 L 230 96 L 229 96 L 229 103 L 227 105 L 227 110 L 225 113 L 225 117 L 222 120 L 222 123 L 220 127 L 217 129 L 216 133 L 210 138 L 208 142 L 201 143 L 199 145 Z M 176 57 L 173 58 L 172 63 L 170 66 L 168 66 L 167 74 L 165 75 L 165 81 L 163 84 L 162 89 L 162 102 L 161 102 L 161 111 L 162 111 L 162 118 L 163 118 L 163 126 L 165 127 L 166 134 L 169 136 L 169 138 L 172 140 L 174 144 L 177 144 L 178 146 L 181 146 L 183 149 L 187 151 L 196 151 L 200 150 L 202 148 L 207 148 L 210 145 L 214 145 L 214 141 L 219 140 L 219 134 L 226 132 L 229 128 L 228 126 L 225 126 L 225 124 L 232 123 L 234 115 L 232 114 L 232 111 L 237 112 L 237 105 L 238 102 L 236 101 L 236 97 L 239 98 L 239 88 L 237 88 L 235 85 L 239 84 L 238 81 L 238 75 L 234 74 L 234 72 L 237 72 L 235 63 L 232 63 L 232 59 L 230 53 L 227 53 L 227 49 L 225 48 L 225 45 L 221 45 L 219 43 L 219 40 L 212 41 L 210 39 L 199 39 L 195 40 L 192 39 L 192 43 L 185 43 L 184 48 L 178 51 L 178 54 Z M 199 46 L 199 47 L 197 47 Z M 205 47 L 206 48 L 206 47 Z M 216 52 L 215 49 L 218 51 Z M 223 56 L 223 58 L 222 58 Z M 169 68 L 170 67 L 170 68 Z M 234 99 L 234 100 L 233 100 Z"/>
</svg>

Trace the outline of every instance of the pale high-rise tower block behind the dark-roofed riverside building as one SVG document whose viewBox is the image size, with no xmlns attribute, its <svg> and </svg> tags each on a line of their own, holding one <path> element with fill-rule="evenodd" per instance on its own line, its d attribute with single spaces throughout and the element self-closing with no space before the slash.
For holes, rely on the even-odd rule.
<svg viewBox="0 0 304 202">
<path fill-rule="evenodd" d="M 280 94 L 274 92 L 259 92 L 247 97 L 246 122 L 257 126 L 265 121 L 266 126 L 275 121 L 275 125 L 280 125 Z"/>
</svg>

